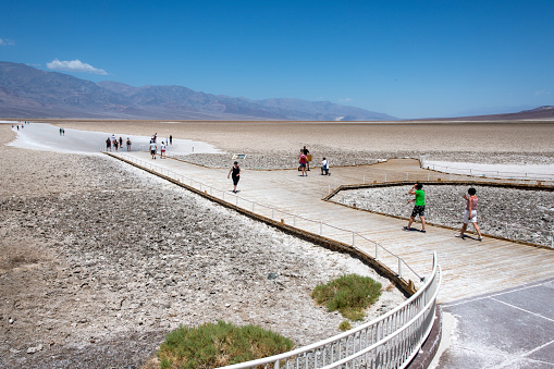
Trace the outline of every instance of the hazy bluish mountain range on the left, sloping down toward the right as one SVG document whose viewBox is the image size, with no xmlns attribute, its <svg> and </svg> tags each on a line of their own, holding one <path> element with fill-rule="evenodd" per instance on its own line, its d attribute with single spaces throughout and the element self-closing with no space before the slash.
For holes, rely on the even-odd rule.
<svg viewBox="0 0 554 369">
<path fill-rule="evenodd" d="M 0 62 L 1 118 L 394 121 L 365 109 L 300 99 L 249 100 L 182 86 L 133 87 Z"/>
</svg>

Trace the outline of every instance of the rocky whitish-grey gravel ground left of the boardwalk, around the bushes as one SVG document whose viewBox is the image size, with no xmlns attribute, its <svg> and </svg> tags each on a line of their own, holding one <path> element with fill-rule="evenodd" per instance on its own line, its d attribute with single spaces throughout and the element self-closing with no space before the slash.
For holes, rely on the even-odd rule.
<svg viewBox="0 0 554 369">
<path fill-rule="evenodd" d="M 301 346 L 340 333 L 309 294 L 349 272 L 386 287 L 368 320 L 404 300 L 356 259 L 110 158 L 0 158 L 0 367 L 138 368 L 170 330 L 219 319 Z"/>
</svg>

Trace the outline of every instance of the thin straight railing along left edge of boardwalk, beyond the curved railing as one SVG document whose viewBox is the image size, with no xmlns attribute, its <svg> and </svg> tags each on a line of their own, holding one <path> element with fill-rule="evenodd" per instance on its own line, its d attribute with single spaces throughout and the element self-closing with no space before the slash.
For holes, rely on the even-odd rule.
<svg viewBox="0 0 554 369">
<path fill-rule="evenodd" d="M 195 179 L 175 173 L 167 168 L 156 165 L 151 161 L 145 161 L 132 156 L 124 155 L 122 152 L 111 152 L 111 153 L 116 155 L 130 162 L 146 168 L 150 171 L 169 176 L 175 181 L 178 181 L 182 184 L 197 188 L 200 192 L 205 192 L 210 196 L 214 196 L 229 204 L 242 207 L 243 209 L 267 217 L 271 220 L 278 221 L 280 220 L 283 223 L 304 230 L 306 232 L 318 234 L 320 236 L 333 237 L 334 239 L 338 239 L 342 241 L 343 243 L 352 245 L 353 248 L 364 249 L 366 254 L 370 255 L 374 259 L 383 261 L 383 263 L 385 263 L 393 272 L 395 272 L 396 275 L 398 275 L 398 278 L 403 279 L 404 281 L 413 280 L 416 287 L 419 287 L 419 284 L 422 281 L 421 275 L 418 272 L 416 272 L 403 258 L 393 254 L 380 243 L 369 239 L 368 237 L 359 234 L 358 232 L 332 225 L 321 220 L 309 219 L 254 200 L 249 200 L 247 198 L 238 196 L 237 194 L 216 188 Z"/>
</svg>

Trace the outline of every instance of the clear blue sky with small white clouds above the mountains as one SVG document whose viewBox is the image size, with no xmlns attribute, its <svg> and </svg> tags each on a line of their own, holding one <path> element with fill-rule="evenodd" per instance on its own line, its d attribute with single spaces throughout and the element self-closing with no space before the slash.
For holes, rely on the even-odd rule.
<svg viewBox="0 0 554 369">
<path fill-rule="evenodd" d="M 398 118 L 554 104 L 554 1 L 3 1 L 0 60 Z"/>
</svg>

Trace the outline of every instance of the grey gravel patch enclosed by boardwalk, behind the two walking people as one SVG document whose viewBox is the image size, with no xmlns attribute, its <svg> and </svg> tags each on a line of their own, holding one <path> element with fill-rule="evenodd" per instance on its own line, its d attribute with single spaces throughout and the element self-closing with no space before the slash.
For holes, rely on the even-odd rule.
<svg viewBox="0 0 554 369">
<path fill-rule="evenodd" d="M 410 186 L 348 189 L 332 200 L 358 208 L 408 218 L 414 198 Z M 424 185 L 426 220 L 447 226 L 460 227 L 466 201 L 463 196 L 468 186 Z M 554 192 L 475 186 L 479 197 L 477 222 L 482 233 L 551 245 L 550 231 L 554 230 Z M 505 224 L 508 224 L 507 233 Z M 529 231 L 535 230 L 535 231 Z M 469 225 L 469 231 L 472 231 Z M 549 231 L 538 232 L 537 230 Z"/>
</svg>

